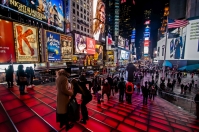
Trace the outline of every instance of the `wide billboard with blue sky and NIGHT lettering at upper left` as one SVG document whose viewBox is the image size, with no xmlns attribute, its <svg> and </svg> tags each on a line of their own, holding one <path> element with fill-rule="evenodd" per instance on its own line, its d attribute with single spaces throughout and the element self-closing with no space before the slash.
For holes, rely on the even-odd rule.
<svg viewBox="0 0 199 132">
<path fill-rule="evenodd" d="M 3 1 L 3 0 L 2 0 Z M 6 0 L 10 8 L 64 30 L 62 0 Z"/>
</svg>

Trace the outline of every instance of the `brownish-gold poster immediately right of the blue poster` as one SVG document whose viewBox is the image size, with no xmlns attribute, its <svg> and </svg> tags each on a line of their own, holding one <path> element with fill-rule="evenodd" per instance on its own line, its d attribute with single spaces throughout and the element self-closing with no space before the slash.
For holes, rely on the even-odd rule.
<svg viewBox="0 0 199 132">
<path fill-rule="evenodd" d="M 61 54 L 62 60 L 72 60 L 73 38 L 71 36 L 61 35 Z"/>
</svg>

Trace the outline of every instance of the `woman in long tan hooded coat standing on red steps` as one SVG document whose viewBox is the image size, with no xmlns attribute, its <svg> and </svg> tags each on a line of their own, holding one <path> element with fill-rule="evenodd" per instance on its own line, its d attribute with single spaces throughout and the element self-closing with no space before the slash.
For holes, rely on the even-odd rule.
<svg viewBox="0 0 199 132">
<path fill-rule="evenodd" d="M 60 128 L 66 125 L 66 130 L 69 130 L 73 125 L 69 124 L 67 107 L 70 101 L 69 98 L 73 95 L 73 92 L 68 88 L 68 73 L 64 69 L 61 69 L 57 75 L 57 122 L 60 122 Z"/>
</svg>

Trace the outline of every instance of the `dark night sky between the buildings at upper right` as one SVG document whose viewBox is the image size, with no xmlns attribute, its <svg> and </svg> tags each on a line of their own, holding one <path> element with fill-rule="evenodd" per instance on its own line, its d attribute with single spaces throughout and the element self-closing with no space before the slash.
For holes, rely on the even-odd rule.
<svg viewBox="0 0 199 132">
<path fill-rule="evenodd" d="M 137 53 L 139 52 L 139 41 L 143 39 L 143 31 L 144 31 L 144 10 L 151 9 L 151 44 L 152 47 L 156 47 L 158 40 L 158 29 L 161 27 L 161 17 L 163 15 L 163 10 L 165 7 L 165 3 L 168 0 L 136 0 L 136 47 Z"/>
</svg>

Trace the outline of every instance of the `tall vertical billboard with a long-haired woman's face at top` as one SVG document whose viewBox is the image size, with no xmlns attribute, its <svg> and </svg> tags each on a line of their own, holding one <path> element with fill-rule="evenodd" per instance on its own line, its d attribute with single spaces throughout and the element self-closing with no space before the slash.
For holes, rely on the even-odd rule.
<svg viewBox="0 0 199 132">
<path fill-rule="evenodd" d="M 99 42 L 105 42 L 105 4 L 102 0 L 93 0 L 93 37 Z"/>
</svg>

